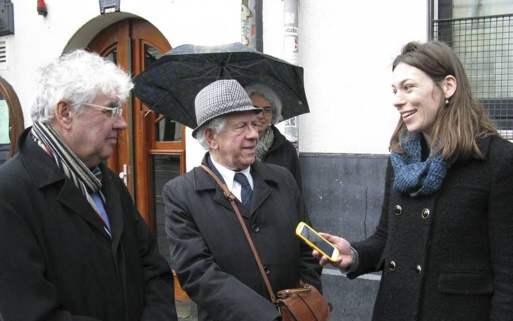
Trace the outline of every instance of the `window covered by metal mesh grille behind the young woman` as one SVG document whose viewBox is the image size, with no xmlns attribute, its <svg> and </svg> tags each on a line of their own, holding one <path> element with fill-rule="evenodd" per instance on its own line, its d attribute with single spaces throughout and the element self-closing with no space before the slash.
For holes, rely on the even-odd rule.
<svg viewBox="0 0 513 321">
<path fill-rule="evenodd" d="M 455 50 L 483 108 L 513 139 L 513 2 L 439 0 L 433 8 L 431 39 Z"/>
</svg>

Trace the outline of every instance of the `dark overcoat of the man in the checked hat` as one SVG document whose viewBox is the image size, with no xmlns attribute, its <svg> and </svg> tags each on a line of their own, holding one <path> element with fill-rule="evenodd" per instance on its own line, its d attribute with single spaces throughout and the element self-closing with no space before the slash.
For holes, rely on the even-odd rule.
<svg viewBox="0 0 513 321">
<path fill-rule="evenodd" d="M 321 291 L 319 262 L 294 234 L 299 221 L 309 221 L 294 178 L 261 162 L 251 166 L 251 175 L 252 210 L 237 204 L 273 291 L 298 287 L 300 279 Z M 195 167 L 169 181 L 163 195 L 172 267 L 198 304 L 199 319 L 277 318 L 242 226 L 214 179 Z"/>
</svg>

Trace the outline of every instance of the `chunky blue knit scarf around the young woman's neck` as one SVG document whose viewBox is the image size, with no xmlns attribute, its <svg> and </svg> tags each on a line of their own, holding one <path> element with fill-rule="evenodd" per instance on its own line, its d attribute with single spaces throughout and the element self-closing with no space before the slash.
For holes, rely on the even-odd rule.
<svg viewBox="0 0 513 321">
<path fill-rule="evenodd" d="M 447 174 L 449 165 L 442 153 L 422 161 L 422 135 L 409 131 L 401 138 L 404 154 L 390 153 L 396 178 L 393 190 L 407 193 L 411 197 L 431 195 L 437 192 Z M 432 152 L 432 149 L 431 149 Z"/>
</svg>

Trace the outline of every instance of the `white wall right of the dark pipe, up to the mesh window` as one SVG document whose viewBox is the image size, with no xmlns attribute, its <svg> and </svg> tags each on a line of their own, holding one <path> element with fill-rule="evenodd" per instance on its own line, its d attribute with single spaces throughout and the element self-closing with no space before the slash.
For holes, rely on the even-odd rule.
<svg viewBox="0 0 513 321">
<path fill-rule="evenodd" d="M 387 154 L 398 120 L 391 63 L 427 37 L 427 1 L 299 0 L 299 63 L 310 113 L 302 153 Z M 283 55 L 283 1 L 264 0 L 264 52 Z"/>
</svg>

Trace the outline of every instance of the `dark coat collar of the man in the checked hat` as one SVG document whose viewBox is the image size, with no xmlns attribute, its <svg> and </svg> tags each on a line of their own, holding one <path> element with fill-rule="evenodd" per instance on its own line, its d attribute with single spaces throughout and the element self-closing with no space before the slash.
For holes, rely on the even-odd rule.
<svg viewBox="0 0 513 321">
<path fill-rule="evenodd" d="M 202 164 L 208 166 L 207 158 L 209 153 L 206 153 L 203 157 Z M 242 204 L 237 201 L 236 204 L 239 207 L 239 211 L 241 215 L 249 218 L 258 208 L 264 203 L 264 201 L 268 198 L 271 193 L 271 186 L 278 185 L 278 180 L 275 178 L 275 175 L 269 171 L 267 165 L 261 163 L 259 161 L 255 161 L 253 165 L 251 165 L 251 176 L 253 177 L 253 198 L 252 198 L 252 206 L 251 212 L 249 212 L 246 207 L 242 206 Z M 198 192 L 206 191 L 206 190 L 215 190 L 214 200 L 227 209 L 232 210 L 230 202 L 225 197 L 223 190 L 220 186 L 215 182 L 215 180 L 201 167 L 194 167 L 192 169 L 192 175 L 194 180 L 194 189 Z"/>
</svg>

